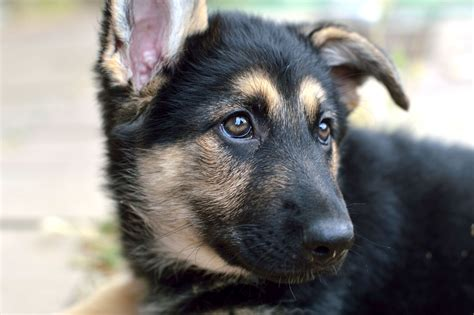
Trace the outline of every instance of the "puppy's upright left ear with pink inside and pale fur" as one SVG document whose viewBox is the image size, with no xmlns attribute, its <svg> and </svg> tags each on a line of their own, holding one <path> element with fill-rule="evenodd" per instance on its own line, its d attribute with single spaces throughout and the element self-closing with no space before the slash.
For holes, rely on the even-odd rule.
<svg viewBox="0 0 474 315">
<path fill-rule="evenodd" d="M 107 0 L 99 68 L 112 86 L 139 91 L 206 28 L 205 0 Z"/>
</svg>

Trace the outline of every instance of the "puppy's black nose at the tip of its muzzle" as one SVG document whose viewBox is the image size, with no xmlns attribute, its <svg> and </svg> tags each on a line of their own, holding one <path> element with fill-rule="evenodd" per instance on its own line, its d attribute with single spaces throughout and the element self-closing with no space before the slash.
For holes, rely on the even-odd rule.
<svg viewBox="0 0 474 315">
<path fill-rule="evenodd" d="M 304 229 L 303 245 L 314 261 L 325 264 L 352 246 L 354 229 L 349 219 L 317 220 Z"/>
</svg>

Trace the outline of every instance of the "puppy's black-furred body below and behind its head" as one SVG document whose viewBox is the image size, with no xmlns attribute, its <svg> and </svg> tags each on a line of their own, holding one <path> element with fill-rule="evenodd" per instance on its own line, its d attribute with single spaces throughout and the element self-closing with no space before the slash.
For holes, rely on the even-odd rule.
<svg viewBox="0 0 474 315">
<path fill-rule="evenodd" d="M 469 313 L 473 152 L 362 130 L 349 132 L 341 151 L 340 182 L 356 242 L 337 275 L 289 285 L 170 271 L 145 310 Z"/>
</svg>

